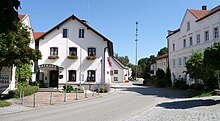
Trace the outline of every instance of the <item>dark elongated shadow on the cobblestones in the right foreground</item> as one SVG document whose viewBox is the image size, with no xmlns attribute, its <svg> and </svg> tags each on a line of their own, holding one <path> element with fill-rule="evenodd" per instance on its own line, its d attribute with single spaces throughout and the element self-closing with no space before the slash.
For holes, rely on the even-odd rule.
<svg viewBox="0 0 220 121">
<path fill-rule="evenodd" d="M 157 106 L 167 108 L 167 109 L 188 109 L 200 106 L 212 106 L 219 104 L 220 100 L 212 99 L 199 99 L 199 100 L 184 100 L 184 101 L 174 101 L 158 104 Z"/>
</svg>

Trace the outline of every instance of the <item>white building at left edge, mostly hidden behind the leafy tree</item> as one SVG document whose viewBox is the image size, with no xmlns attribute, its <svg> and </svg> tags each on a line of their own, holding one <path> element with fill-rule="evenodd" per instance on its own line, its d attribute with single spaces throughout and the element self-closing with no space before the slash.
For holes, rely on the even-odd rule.
<svg viewBox="0 0 220 121">
<path fill-rule="evenodd" d="M 31 27 L 30 17 L 27 14 L 20 14 L 19 16 L 20 22 L 23 23 L 25 26 L 27 26 L 30 31 L 30 47 L 35 49 L 35 41 L 33 37 L 33 31 Z M 31 67 L 32 72 L 34 72 L 34 65 Z M 15 80 L 15 70 L 16 67 L 7 68 L 4 67 L 1 70 L 1 76 L 0 76 L 0 93 L 7 92 L 8 90 L 13 90 L 16 87 L 16 80 Z M 35 80 L 35 74 L 32 75 L 32 80 Z"/>
</svg>

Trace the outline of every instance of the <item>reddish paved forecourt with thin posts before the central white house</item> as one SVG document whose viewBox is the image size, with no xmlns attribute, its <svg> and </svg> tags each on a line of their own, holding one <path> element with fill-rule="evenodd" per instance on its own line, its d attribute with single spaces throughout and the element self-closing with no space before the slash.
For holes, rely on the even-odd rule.
<svg viewBox="0 0 220 121">
<path fill-rule="evenodd" d="M 103 96 L 106 93 L 96 93 L 90 90 L 84 92 L 74 91 L 71 93 L 62 92 L 37 92 L 33 95 L 24 97 L 24 92 L 20 92 L 20 98 L 15 99 L 15 104 L 22 104 L 28 107 L 45 107 L 49 105 L 56 105 L 64 102 L 76 102 L 80 100 L 87 100 L 97 96 Z"/>
</svg>

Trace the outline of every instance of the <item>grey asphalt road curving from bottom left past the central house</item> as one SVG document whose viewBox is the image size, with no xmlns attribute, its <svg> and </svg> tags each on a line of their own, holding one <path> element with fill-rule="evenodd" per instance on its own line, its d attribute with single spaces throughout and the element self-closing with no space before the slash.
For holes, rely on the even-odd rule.
<svg viewBox="0 0 220 121">
<path fill-rule="evenodd" d="M 167 98 L 168 97 L 168 98 Z M 172 90 L 119 85 L 115 92 L 84 102 L 1 115 L 1 121 L 122 121 L 149 110 L 163 100 L 181 97 Z"/>
</svg>

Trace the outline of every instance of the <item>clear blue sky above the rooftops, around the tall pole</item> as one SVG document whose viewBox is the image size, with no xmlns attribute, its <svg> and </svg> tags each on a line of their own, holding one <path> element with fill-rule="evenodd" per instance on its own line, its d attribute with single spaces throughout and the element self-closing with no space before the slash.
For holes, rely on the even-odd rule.
<svg viewBox="0 0 220 121">
<path fill-rule="evenodd" d="M 135 23 L 139 23 L 138 59 L 166 46 L 167 30 L 179 28 L 187 8 L 212 9 L 218 0 L 20 0 L 35 32 L 46 32 L 74 14 L 110 39 L 114 52 L 135 63 Z"/>
</svg>

